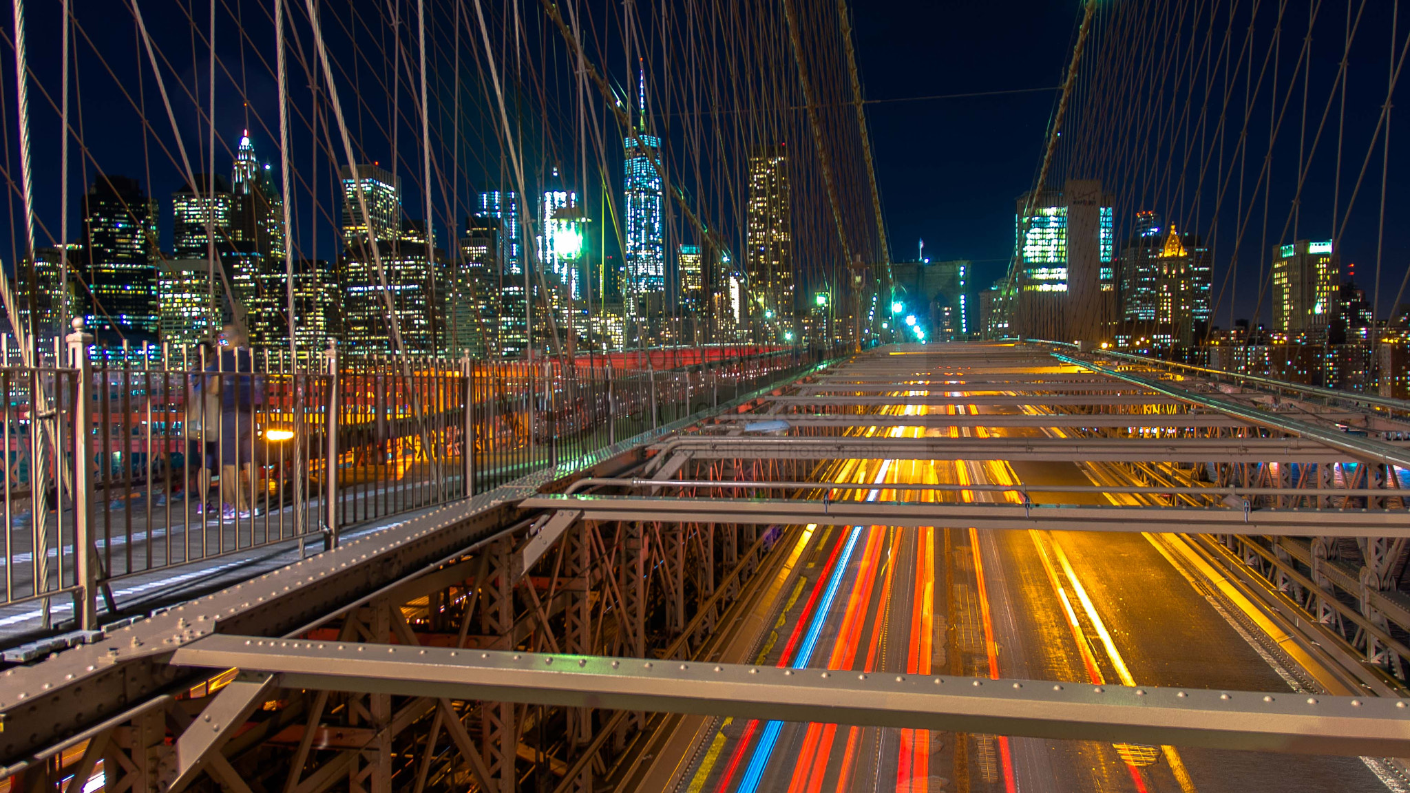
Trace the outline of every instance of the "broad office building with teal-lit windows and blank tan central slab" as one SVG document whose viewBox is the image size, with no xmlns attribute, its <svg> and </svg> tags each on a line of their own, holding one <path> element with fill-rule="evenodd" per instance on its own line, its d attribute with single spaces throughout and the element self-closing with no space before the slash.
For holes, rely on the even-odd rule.
<svg viewBox="0 0 1410 793">
<path fill-rule="evenodd" d="M 1091 179 L 1018 198 L 1014 332 L 1094 340 L 1115 320 L 1114 199 Z"/>
</svg>

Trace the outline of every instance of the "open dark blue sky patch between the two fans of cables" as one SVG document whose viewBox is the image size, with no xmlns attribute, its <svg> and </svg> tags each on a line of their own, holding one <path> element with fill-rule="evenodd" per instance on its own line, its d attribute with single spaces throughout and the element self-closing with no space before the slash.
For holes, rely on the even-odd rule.
<svg viewBox="0 0 1410 793">
<path fill-rule="evenodd" d="M 1052 87 L 1076 3 L 853 4 L 869 100 Z M 1032 185 L 1058 92 L 867 107 L 891 257 L 974 261 L 976 289 L 1008 270 L 1014 199 Z"/>
</svg>

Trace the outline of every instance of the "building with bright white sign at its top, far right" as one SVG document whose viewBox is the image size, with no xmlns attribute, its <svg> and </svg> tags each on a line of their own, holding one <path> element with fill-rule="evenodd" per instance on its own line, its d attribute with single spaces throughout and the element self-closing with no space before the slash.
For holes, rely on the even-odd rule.
<svg viewBox="0 0 1410 793">
<path fill-rule="evenodd" d="M 1273 330 L 1290 341 L 1325 333 L 1340 286 L 1341 262 L 1331 240 L 1273 247 Z"/>
</svg>

